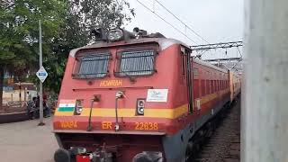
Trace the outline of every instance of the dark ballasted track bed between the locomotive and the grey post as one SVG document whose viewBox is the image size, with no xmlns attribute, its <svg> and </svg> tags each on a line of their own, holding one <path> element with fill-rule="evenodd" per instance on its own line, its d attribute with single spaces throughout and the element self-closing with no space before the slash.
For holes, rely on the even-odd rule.
<svg viewBox="0 0 288 162">
<path fill-rule="evenodd" d="M 240 161 L 240 99 L 225 113 L 210 139 L 206 139 L 191 162 Z"/>
</svg>

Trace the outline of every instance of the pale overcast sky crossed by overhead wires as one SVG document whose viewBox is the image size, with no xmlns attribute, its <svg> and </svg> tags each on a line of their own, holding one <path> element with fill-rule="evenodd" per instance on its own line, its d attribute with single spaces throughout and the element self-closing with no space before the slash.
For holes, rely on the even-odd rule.
<svg viewBox="0 0 288 162">
<path fill-rule="evenodd" d="M 168 14 L 154 0 L 139 0 L 151 10 L 161 15 L 169 23 L 175 25 L 179 30 L 186 32 L 187 39 L 180 32 L 175 31 L 167 23 L 159 19 L 155 14 L 149 12 L 137 0 L 127 0 L 130 7 L 135 9 L 136 16 L 126 29 L 132 31 L 137 26 L 148 32 L 161 32 L 168 38 L 182 40 L 188 45 L 207 44 L 192 31 L 185 31 L 185 26 L 178 22 L 173 15 Z M 210 43 L 242 40 L 244 27 L 244 0 L 158 0 L 165 5 L 173 14 L 184 23 L 199 33 Z M 234 50 L 233 52 L 235 53 Z M 214 57 L 213 57 L 214 58 Z"/>
</svg>

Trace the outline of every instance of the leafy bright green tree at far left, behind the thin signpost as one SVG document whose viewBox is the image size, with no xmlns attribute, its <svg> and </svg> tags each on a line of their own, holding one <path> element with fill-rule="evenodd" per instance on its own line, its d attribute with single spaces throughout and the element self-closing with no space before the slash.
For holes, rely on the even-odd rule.
<svg viewBox="0 0 288 162">
<path fill-rule="evenodd" d="M 57 0 L 2 0 L 0 3 L 0 108 L 4 73 L 25 76 L 37 68 L 38 21 L 43 26 L 43 51 L 58 37 L 67 3 Z"/>
</svg>

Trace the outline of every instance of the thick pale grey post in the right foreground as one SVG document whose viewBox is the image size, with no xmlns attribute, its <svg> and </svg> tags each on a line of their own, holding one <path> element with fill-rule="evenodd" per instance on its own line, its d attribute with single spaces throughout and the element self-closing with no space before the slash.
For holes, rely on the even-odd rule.
<svg viewBox="0 0 288 162">
<path fill-rule="evenodd" d="M 288 1 L 246 1 L 241 161 L 288 161 Z"/>
</svg>

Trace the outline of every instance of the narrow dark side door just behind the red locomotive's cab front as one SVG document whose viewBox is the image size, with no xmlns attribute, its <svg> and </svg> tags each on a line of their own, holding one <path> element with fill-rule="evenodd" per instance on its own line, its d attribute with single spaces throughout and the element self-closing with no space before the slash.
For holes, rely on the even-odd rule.
<svg viewBox="0 0 288 162">
<path fill-rule="evenodd" d="M 186 85 L 187 85 L 187 99 L 188 99 L 188 108 L 189 112 L 193 112 L 193 75 L 192 75 L 192 61 L 191 58 L 191 51 L 188 49 L 181 48 L 184 62 L 186 64 L 185 71 L 186 71 Z"/>
</svg>

